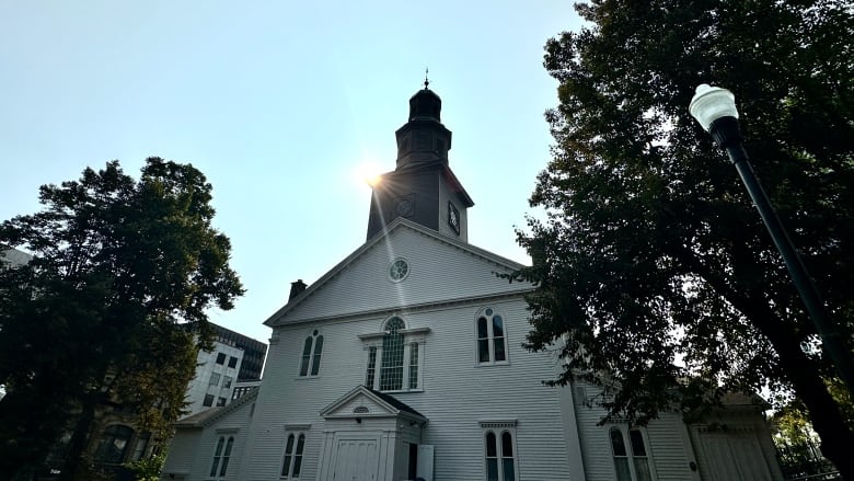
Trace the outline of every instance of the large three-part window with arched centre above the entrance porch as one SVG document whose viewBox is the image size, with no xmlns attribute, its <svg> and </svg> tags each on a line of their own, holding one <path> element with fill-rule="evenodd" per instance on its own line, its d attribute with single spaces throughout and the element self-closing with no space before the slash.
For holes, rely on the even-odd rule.
<svg viewBox="0 0 854 481">
<path fill-rule="evenodd" d="M 365 386 L 378 391 L 420 390 L 424 365 L 424 335 L 429 329 L 407 329 L 397 316 L 383 324 L 382 332 L 362 334 L 369 341 Z M 378 365 L 379 364 L 379 365 Z M 379 373 L 378 373 L 379 370 Z"/>
</svg>

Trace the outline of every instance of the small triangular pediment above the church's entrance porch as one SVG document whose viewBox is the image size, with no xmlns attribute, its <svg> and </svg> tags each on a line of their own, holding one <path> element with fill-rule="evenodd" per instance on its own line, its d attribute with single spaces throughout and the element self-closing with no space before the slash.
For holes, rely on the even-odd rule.
<svg viewBox="0 0 854 481">
<path fill-rule="evenodd" d="M 358 386 L 327 405 L 320 413 L 324 419 L 356 417 L 408 417 L 427 421 L 420 413 L 403 402 L 365 386 Z"/>
</svg>

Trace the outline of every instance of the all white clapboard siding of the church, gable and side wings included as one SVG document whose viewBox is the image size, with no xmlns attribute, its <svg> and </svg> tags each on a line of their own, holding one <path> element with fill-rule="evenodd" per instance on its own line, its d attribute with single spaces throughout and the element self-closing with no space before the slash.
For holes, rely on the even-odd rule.
<svg viewBox="0 0 854 481">
<path fill-rule="evenodd" d="M 408 261 L 409 273 L 403 282 L 393 283 L 388 267 L 399 256 Z M 588 481 L 613 480 L 610 426 L 597 426 L 602 409 L 589 409 L 582 402 L 585 393 L 592 396 L 596 388 L 573 386 L 574 402 L 568 402 L 567 391 L 543 386 L 561 370 L 554 354 L 522 347 L 530 331 L 523 295 L 531 286 L 495 275 L 518 267 L 396 220 L 388 232 L 358 249 L 266 321 L 274 332 L 254 415 L 250 416 L 249 403 L 227 411 L 229 415 L 209 422 L 196 435 L 196 455 L 186 454 L 191 445 L 180 440 L 177 446 L 185 453 L 175 454 L 174 460 L 171 456 L 168 466 L 187 466 L 192 458 L 191 479 L 206 479 L 219 433 L 232 430 L 239 445 L 229 479 L 278 480 L 287 436 L 299 431 L 307 434 L 300 480 L 328 473 L 320 463 L 331 458 L 334 447 L 330 443 L 336 433 L 368 433 L 379 424 L 347 417 L 327 423 L 320 413 L 365 382 L 367 343 L 381 342 L 383 323 L 397 316 L 407 332 L 418 337 L 423 360 L 419 389 L 393 396 L 427 419 L 420 444 L 434 447 L 432 480 L 485 479 L 482 423 L 487 422 L 505 422 L 495 431 L 500 434 L 507 428 L 516 434 L 520 480 L 576 479 L 581 470 Z M 487 307 L 504 318 L 506 363 L 477 363 L 476 316 Z M 303 345 L 315 330 L 324 339 L 320 371 L 315 377 L 300 377 Z M 376 376 L 380 376 L 380 364 L 378 356 Z M 346 409 L 353 411 L 351 405 Z M 677 414 L 662 414 L 645 432 L 656 479 L 697 481 L 689 468 L 691 444 Z M 192 435 L 187 430 L 184 434 Z M 403 446 L 402 439 L 397 443 Z M 578 460 L 579 445 L 584 466 Z M 393 460 L 384 460 L 393 467 Z M 397 469 L 403 469 L 402 462 Z"/>
</svg>

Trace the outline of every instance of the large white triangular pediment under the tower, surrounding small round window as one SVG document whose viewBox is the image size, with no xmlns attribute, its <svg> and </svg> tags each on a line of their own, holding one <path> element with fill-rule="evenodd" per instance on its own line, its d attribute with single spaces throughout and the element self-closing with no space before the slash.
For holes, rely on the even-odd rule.
<svg viewBox="0 0 854 481">
<path fill-rule="evenodd" d="M 396 260 L 406 276 L 393 279 Z M 499 277 L 522 265 L 397 218 L 270 316 L 272 328 L 341 317 L 518 296 L 531 284 Z"/>
</svg>

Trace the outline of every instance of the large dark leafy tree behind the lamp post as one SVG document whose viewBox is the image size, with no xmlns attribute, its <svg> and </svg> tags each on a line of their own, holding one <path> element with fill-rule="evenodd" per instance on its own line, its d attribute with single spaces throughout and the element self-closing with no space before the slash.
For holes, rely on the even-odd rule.
<svg viewBox="0 0 854 481">
<path fill-rule="evenodd" d="M 528 345 L 558 342 L 611 415 L 645 422 L 725 390 L 794 393 L 854 479 L 836 377 L 735 168 L 690 117 L 731 90 L 746 147 L 840 325 L 854 328 L 854 20 L 847 1 L 599 0 L 546 44 L 553 159 L 520 232 Z M 616 387 L 619 386 L 619 389 Z M 833 442 L 829 443 L 830 439 Z M 847 447 L 845 447 L 847 446 Z M 845 459 L 849 458 L 849 459 Z"/>
</svg>

